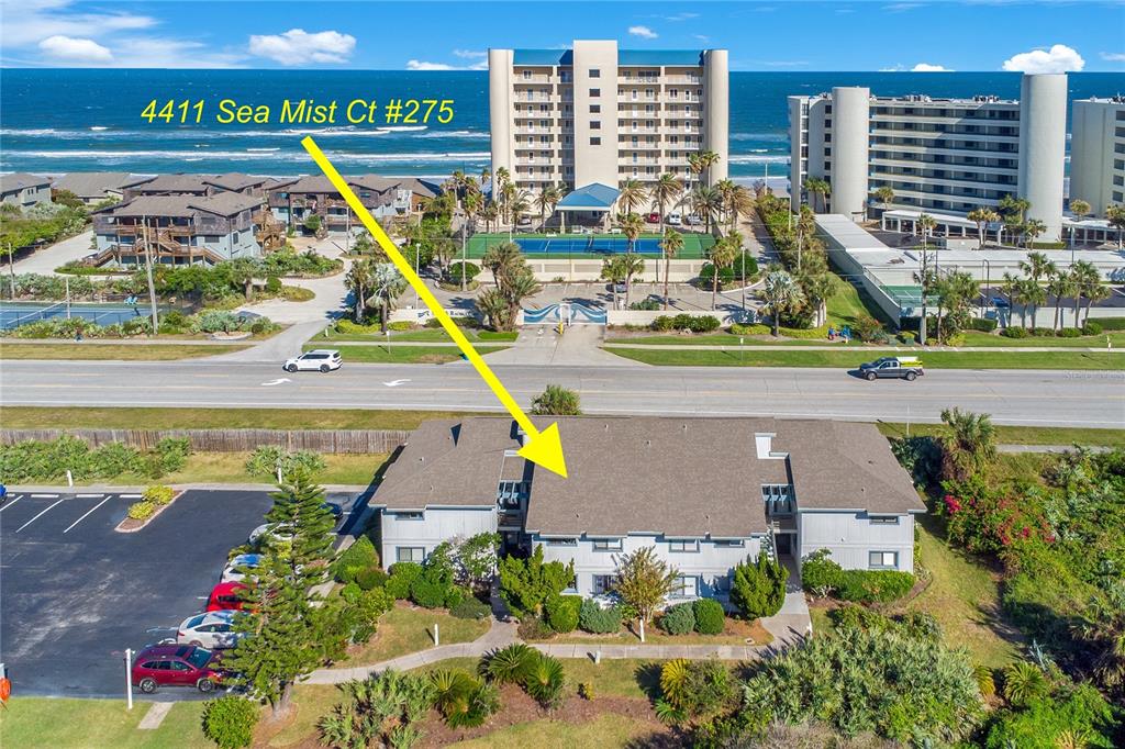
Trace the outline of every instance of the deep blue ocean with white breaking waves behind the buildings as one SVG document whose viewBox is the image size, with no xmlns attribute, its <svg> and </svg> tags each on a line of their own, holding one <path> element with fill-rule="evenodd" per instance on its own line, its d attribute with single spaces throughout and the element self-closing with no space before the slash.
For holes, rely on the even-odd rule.
<svg viewBox="0 0 1125 749">
<path fill-rule="evenodd" d="M 933 97 L 996 94 L 1018 98 L 1018 73 L 735 72 L 730 76 L 730 156 L 734 178 L 789 172 L 785 97 L 834 85 L 867 85 L 878 94 Z M 1125 90 L 1125 74 L 1076 73 L 1071 99 Z M 219 125 L 219 99 L 268 105 L 392 98 L 452 99 L 446 125 Z M 148 124 L 153 99 L 206 99 L 200 125 Z M 1069 116 L 1069 112 L 1068 112 Z M 382 121 L 380 119 L 380 121 Z M 439 178 L 488 163 L 486 72 L 277 70 L 0 70 L 0 171 L 314 172 L 300 147 L 312 134 L 344 172 Z"/>
</svg>

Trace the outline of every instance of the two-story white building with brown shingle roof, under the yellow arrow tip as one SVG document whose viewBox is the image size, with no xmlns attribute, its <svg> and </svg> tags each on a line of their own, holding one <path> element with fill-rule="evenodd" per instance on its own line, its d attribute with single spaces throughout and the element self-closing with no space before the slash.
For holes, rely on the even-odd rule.
<svg viewBox="0 0 1125 749">
<path fill-rule="evenodd" d="M 870 424 L 773 418 L 559 418 L 569 478 L 516 454 L 510 419 L 424 423 L 376 490 L 385 565 L 421 562 L 484 531 L 505 550 L 574 561 L 574 592 L 605 593 L 620 554 L 652 547 L 677 597 L 724 601 L 760 549 L 819 549 L 848 569 L 914 570 L 925 506 Z M 543 424 L 546 426 L 546 422 Z"/>
</svg>

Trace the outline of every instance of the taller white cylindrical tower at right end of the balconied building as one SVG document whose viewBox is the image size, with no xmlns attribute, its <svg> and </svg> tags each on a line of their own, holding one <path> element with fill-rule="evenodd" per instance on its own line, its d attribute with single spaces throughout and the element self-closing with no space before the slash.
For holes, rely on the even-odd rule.
<svg viewBox="0 0 1125 749">
<path fill-rule="evenodd" d="M 1046 224 L 1041 242 L 1058 242 L 1062 234 L 1065 157 L 1066 74 L 1025 74 L 1019 84 L 1018 195 L 1032 204 L 1027 217 Z"/>
</svg>

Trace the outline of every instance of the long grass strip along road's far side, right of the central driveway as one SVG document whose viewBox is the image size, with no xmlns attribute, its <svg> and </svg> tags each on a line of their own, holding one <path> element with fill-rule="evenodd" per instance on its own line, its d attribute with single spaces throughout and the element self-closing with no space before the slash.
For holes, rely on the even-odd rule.
<svg viewBox="0 0 1125 749">
<path fill-rule="evenodd" d="M 669 346 L 668 350 L 606 346 L 605 351 L 626 359 L 663 367 L 834 367 L 855 369 L 879 357 L 893 357 L 893 349 L 850 351 L 695 351 Z M 956 352 L 926 351 L 921 360 L 927 369 L 1090 369 L 1123 370 L 1123 352 Z"/>
</svg>

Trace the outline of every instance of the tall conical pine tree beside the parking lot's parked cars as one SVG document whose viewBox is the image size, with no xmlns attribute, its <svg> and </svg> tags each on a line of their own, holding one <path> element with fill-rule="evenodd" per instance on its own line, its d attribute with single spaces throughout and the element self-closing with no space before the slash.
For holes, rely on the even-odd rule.
<svg viewBox="0 0 1125 749">
<path fill-rule="evenodd" d="M 224 661 L 230 683 L 270 703 L 274 718 L 289 710 L 292 685 L 324 660 L 321 628 L 327 610 L 314 605 L 310 588 L 325 583 L 332 556 L 332 514 L 324 490 L 295 471 L 273 495 L 266 518 L 273 524 L 262 563 L 248 577 L 246 608 L 238 641 Z"/>
</svg>

